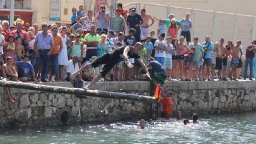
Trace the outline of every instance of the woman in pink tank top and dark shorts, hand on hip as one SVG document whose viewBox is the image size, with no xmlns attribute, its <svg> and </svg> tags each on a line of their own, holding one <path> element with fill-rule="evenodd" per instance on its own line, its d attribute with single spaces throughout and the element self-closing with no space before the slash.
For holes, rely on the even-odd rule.
<svg viewBox="0 0 256 144">
<path fill-rule="evenodd" d="M 176 61 L 177 65 L 179 65 L 179 76 L 181 81 L 183 81 L 184 54 L 189 53 L 189 47 L 184 44 L 184 40 L 185 38 L 183 36 L 179 38 L 179 43 L 177 43 L 176 49 Z"/>
</svg>

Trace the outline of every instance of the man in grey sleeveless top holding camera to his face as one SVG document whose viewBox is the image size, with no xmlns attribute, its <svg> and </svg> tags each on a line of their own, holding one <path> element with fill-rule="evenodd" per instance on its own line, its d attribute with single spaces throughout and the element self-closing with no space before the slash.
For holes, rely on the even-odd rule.
<svg viewBox="0 0 256 144">
<path fill-rule="evenodd" d="M 96 31 L 101 33 L 108 33 L 108 23 L 110 21 L 110 14 L 105 12 L 106 7 L 104 5 L 100 6 L 100 11 L 95 17 L 95 24 L 97 24 Z"/>
</svg>

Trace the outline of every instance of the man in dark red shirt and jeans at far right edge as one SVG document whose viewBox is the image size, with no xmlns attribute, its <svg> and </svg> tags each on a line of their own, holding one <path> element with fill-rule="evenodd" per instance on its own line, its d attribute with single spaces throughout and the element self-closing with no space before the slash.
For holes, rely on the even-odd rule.
<svg viewBox="0 0 256 144">
<path fill-rule="evenodd" d="M 253 58 L 255 54 L 255 45 L 256 45 L 256 40 L 252 42 L 252 45 L 247 46 L 246 48 L 246 54 L 245 54 L 245 63 L 244 63 L 244 72 L 243 72 L 243 79 L 246 80 L 247 78 L 247 68 L 250 66 L 250 74 L 249 74 L 249 79 L 252 79 L 252 74 L 253 74 Z M 254 76 L 255 77 L 255 76 Z"/>
</svg>

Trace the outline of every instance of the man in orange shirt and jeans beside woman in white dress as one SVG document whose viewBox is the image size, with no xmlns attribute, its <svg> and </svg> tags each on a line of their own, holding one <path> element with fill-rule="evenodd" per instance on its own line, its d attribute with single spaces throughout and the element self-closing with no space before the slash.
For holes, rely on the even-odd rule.
<svg viewBox="0 0 256 144">
<path fill-rule="evenodd" d="M 52 27 L 51 29 L 51 33 L 54 41 L 53 49 L 50 55 L 50 63 L 52 67 L 51 81 L 55 81 L 55 76 L 57 76 L 57 79 L 58 79 L 58 74 L 59 74 L 58 56 L 62 49 L 62 39 L 61 39 L 61 36 L 57 35 L 58 31 L 59 31 L 58 27 L 56 26 Z"/>
</svg>

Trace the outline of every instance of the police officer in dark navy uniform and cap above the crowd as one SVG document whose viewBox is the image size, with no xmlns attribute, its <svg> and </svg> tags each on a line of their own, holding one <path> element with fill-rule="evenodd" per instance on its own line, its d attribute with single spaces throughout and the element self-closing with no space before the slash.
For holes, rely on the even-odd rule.
<svg viewBox="0 0 256 144">
<path fill-rule="evenodd" d="M 130 11 L 131 11 L 131 14 L 128 15 L 126 24 L 129 27 L 129 29 L 131 29 L 131 28 L 136 29 L 135 39 L 136 39 L 136 42 L 140 42 L 141 41 L 140 25 L 143 24 L 144 21 L 143 21 L 143 18 L 141 17 L 141 15 L 136 13 L 136 8 L 131 8 Z"/>
</svg>

